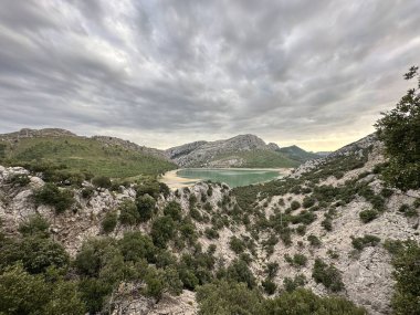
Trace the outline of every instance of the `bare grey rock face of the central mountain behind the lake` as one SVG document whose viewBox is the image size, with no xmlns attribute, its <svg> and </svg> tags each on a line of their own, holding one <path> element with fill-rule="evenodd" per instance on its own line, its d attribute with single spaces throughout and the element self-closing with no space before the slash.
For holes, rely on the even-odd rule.
<svg viewBox="0 0 420 315">
<path fill-rule="evenodd" d="M 239 135 L 227 140 L 217 141 L 196 141 L 178 147 L 167 149 L 169 158 L 181 167 L 217 167 L 212 164 L 214 160 L 228 159 L 230 166 L 240 166 L 240 159 L 237 157 L 230 158 L 229 155 L 234 155 L 238 151 L 250 150 L 275 150 L 279 148 L 275 144 L 266 145 L 261 138 L 254 135 Z M 222 164 L 223 166 L 225 164 Z"/>
</svg>

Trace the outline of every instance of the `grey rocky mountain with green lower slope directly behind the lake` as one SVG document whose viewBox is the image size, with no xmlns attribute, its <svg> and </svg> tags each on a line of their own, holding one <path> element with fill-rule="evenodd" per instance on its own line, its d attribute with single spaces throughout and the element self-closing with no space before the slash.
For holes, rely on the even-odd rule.
<svg viewBox="0 0 420 315">
<path fill-rule="evenodd" d="M 279 146 L 265 144 L 254 135 L 225 140 L 196 141 L 167 149 L 180 167 L 294 167 L 298 161 L 279 153 Z"/>
</svg>

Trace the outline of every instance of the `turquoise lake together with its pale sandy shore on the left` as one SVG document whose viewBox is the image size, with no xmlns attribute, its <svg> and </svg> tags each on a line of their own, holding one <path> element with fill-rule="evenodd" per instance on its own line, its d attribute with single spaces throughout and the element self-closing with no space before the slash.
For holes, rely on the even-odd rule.
<svg viewBox="0 0 420 315">
<path fill-rule="evenodd" d="M 285 169 L 186 168 L 168 172 L 162 181 L 171 188 L 190 186 L 204 180 L 225 182 L 233 188 L 281 178 L 286 172 Z"/>
</svg>

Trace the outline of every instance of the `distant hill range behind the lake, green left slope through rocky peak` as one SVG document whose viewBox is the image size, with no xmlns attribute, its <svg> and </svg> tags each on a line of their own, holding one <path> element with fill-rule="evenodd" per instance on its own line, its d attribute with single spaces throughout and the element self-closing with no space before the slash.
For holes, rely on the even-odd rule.
<svg viewBox="0 0 420 315">
<path fill-rule="evenodd" d="M 323 156 L 297 146 L 280 148 L 250 134 L 159 150 L 116 137 L 83 137 L 60 128 L 24 128 L 0 135 L 0 145 L 9 159 L 64 162 L 75 169 L 93 171 L 107 169 L 103 172 L 108 176 L 118 168 L 126 168 L 123 174 L 127 176 L 159 174 L 176 167 L 291 168 Z M 99 164 L 108 167 L 99 167 Z"/>
</svg>

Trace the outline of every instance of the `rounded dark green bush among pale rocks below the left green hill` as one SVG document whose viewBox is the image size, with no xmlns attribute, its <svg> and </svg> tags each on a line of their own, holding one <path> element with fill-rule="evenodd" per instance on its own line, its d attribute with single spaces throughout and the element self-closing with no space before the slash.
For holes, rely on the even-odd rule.
<svg viewBox="0 0 420 315">
<path fill-rule="evenodd" d="M 55 209 L 56 213 L 62 213 L 74 203 L 73 192 L 67 189 L 59 189 L 54 183 L 45 183 L 33 193 L 36 204 L 48 204 Z"/>
</svg>

